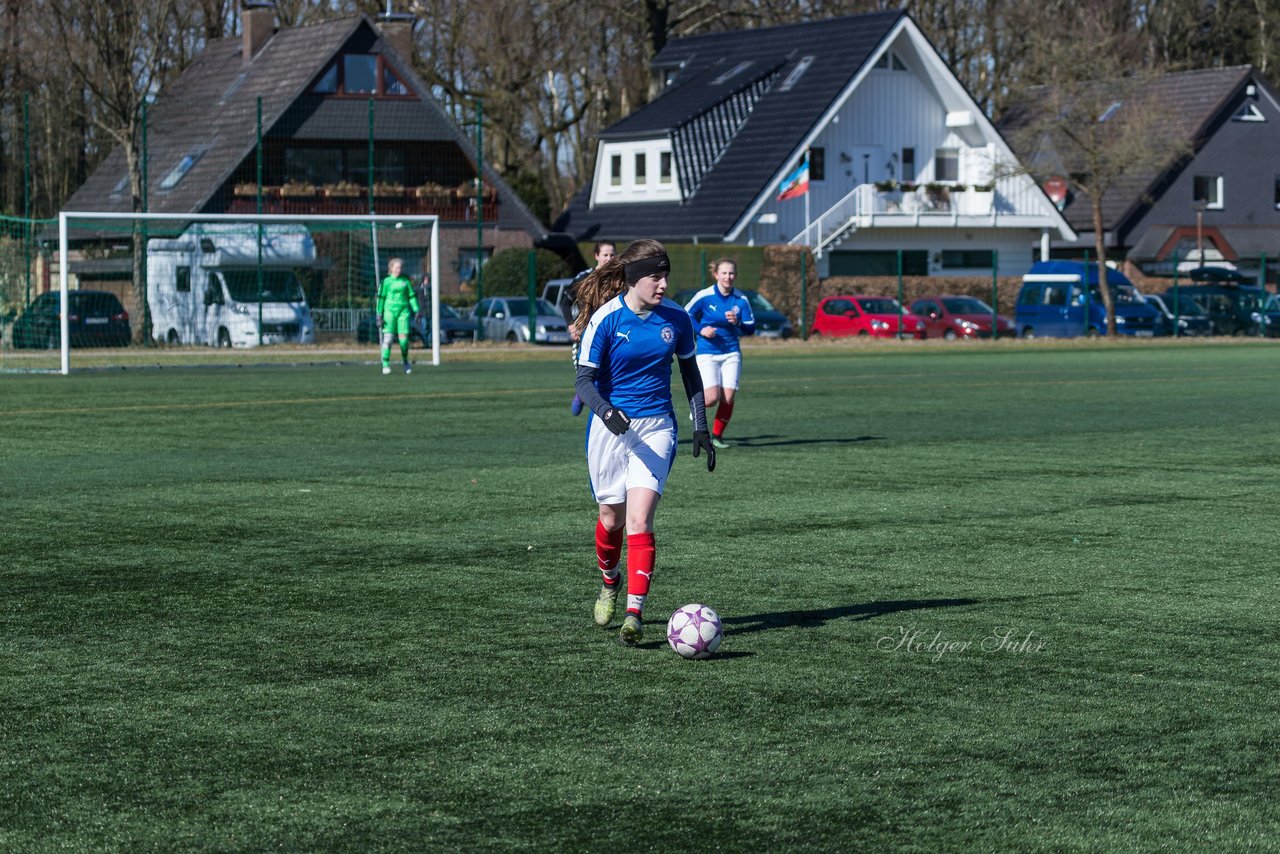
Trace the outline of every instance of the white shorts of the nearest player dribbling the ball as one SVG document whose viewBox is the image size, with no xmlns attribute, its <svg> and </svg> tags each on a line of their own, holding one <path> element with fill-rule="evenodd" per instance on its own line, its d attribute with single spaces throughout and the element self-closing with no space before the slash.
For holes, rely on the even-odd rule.
<svg viewBox="0 0 1280 854">
<path fill-rule="evenodd" d="M 631 419 L 614 435 L 596 415 L 586 434 L 586 470 L 596 503 L 621 504 L 627 490 L 643 487 L 659 495 L 676 462 L 676 423 L 669 416 Z"/>
</svg>

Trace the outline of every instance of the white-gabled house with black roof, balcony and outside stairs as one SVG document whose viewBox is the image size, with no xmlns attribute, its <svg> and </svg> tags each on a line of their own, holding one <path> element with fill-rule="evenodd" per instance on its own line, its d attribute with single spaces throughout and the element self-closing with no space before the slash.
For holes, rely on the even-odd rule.
<svg viewBox="0 0 1280 854">
<path fill-rule="evenodd" d="M 803 243 L 823 275 L 1024 271 L 1075 233 L 904 12 L 675 38 L 556 223 L 576 239 Z M 809 188 L 781 198 L 808 161 Z"/>
</svg>

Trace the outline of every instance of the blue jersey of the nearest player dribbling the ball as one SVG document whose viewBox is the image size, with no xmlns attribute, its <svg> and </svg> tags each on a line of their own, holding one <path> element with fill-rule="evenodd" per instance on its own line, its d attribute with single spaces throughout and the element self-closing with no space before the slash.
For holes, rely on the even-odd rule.
<svg viewBox="0 0 1280 854">
<path fill-rule="evenodd" d="M 694 325 L 678 303 L 663 300 L 641 320 L 614 297 L 591 315 L 581 343 L 577 364 L 596 369 L 604 399 L 630 417 L 676 416 L 671 357 L 694 355 Z"/>
</svg>

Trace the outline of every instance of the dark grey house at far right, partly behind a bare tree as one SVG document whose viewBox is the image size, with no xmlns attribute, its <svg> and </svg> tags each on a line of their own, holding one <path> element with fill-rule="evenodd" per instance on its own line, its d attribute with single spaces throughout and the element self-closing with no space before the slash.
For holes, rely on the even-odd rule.
<svg viewBox="0 0 1280 854">
<path fill-rule="evenodd" d="M 1280 265 L 1280 99 L 1249 65 L 1164 74 L 1143 97 L 1160 105 L 1165 132 L 1185 141 L 1169 163 L 1138 164 L 1102 198 L 1108 255 L 1148 275 L 1231 262 L 1249 274 Z M 1037 91 L 1010 108 L 1001 129 L 1042 179 L 1062 181 L 1038 165 L 1036 141 L 1018 142 L 1036 117 Z M 1116 109 L 1124 109 L 1120 104 Z M 1076 239 L 1055 239 L 1055 257 L 1093 251 L 1092 200 L 1066 191 L 1064 215 Z M 1267 259 L 1267 260 L 1263 260 Z"/>
</svg>

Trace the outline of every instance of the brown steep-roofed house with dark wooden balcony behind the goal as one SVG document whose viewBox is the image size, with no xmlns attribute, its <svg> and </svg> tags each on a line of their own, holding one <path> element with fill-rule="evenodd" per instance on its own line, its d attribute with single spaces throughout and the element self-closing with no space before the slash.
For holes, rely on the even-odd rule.
<svg viewBox="0 0 1280 854">
<path fill-rule="evenodd" d="M 476 257 L 543 241 L 488 168 L 477 200 L 476 150 L 415 74 L 412 26 L 392 14 L 278 28 L 273 4 L 246 3 L 242 35 L 210 41 L 150 105 L 147 210 L 252 214 L 261 186 L 266 214 L 434 214 L 444 293 Z M 65 209 L 132 210 L 124 152 Z"/>
</svg>

